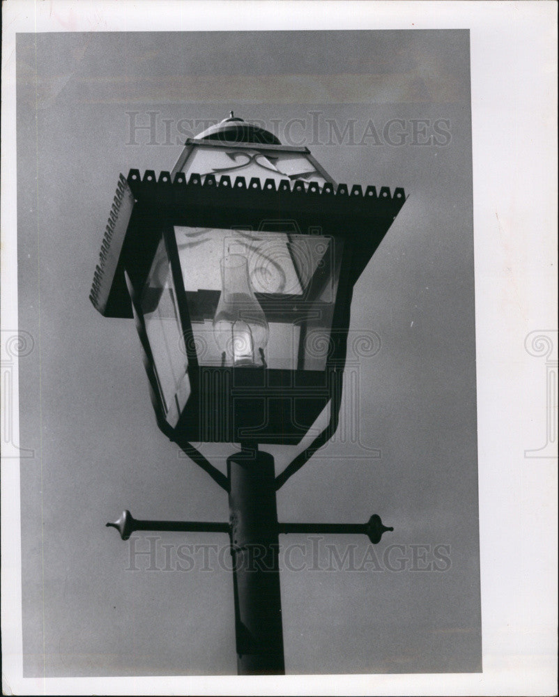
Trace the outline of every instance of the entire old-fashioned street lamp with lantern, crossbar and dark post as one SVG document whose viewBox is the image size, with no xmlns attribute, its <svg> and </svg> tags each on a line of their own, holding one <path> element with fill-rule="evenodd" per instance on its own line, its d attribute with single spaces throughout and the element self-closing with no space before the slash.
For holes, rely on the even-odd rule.
<svg viewBox="0 0 559 697">
<path fill-rule="evenodd" d="M 134 317 L 158 425 L 229 493 L 229 521 L 135 520 L 134 530 L 229 534 L 238 673 L 284 673 L 279 535 L 368 523 L 279 523 L 276 491 L 337 428 L 351 293 L 404 191 L 336 185 L 304 147 L 231 116 L 188 139 L 173 171 L 118 181 L 91 302 Z M 279 476 L 259 445 L 298 445 Z M 227 475 L 192 442 L 236 443 Z"/>
</svg>

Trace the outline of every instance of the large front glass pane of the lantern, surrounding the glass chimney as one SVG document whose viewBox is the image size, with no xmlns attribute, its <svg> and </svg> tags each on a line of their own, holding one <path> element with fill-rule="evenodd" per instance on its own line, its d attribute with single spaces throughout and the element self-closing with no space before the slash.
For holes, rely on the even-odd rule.
<svg viewBox="0 0 559 697">
<path fill-rule="evenodd" d="M 222 291 L 220 260 L 245 256 L 250 286 L 268 322 L 268 342 L 256 367 L 323 370 L 332 344 L 343 240 L 302 235 L 282 224 L 255 232 L 175 227 L 192 339 L 199 365 L 227 366 L 213 319 Z"/>
</svg>

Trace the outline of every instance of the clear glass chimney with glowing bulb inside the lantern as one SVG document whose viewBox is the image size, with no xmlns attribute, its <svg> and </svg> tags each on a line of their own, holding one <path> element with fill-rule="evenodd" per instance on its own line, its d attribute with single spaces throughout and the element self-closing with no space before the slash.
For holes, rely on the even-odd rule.
<svg viewBox="0 0 559 697">
<path fill-rule="evenodd" d="M 223 363 L 265 366 L 268 322 L 250 285 L 247 258 L 242 254 L 227 254 L 220 266 L 222 292 L 213 319 L 213 335 Z"/>
</svg>

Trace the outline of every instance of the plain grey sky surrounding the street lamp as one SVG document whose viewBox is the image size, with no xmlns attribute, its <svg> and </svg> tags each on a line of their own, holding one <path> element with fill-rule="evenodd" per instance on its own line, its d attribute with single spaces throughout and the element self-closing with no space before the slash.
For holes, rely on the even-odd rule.
<svg viewBox="0 0 559 697">
<path fill-rule="evenodd" d="M 326 544 L 359 567 L 365 537 L 323 539 L 321 568 L 319 542 L 282 538 L 309 562 L 282 568 L 286 672 L 480 670 L 468 43 L 467 31 L 17 37 L 19 324 L 35 342 L 20 360 L 19 442 L 34 452 L 21 466 L 24 675 L 236 673 L 231 572 L 204 566 L 207 546 L 194 569 L 177 565 L 181 545 L 219 556 L 227 537 L 122 542 L 105 528 L 124 508 L 222 521 L 228 505 L 158 430 L 134 323 L 89 301 L 118 175 L 170 170 L 184 138 L 231 109 L 308 146 L 338 182 L 408 196 L 353 293 L 349 344 L 366 330 L 378 351 L 350 349 L 339 431 L 277 496 L 285 522 L 378 513 L 395 531 L 355 571 L 326 570 Z M 224 470 L 232 447 L 201 450 Z M 266 450 L 278 473 L 298 452 Z M 153 570 L 132 554 L 150 544 Z"/>
</svg>

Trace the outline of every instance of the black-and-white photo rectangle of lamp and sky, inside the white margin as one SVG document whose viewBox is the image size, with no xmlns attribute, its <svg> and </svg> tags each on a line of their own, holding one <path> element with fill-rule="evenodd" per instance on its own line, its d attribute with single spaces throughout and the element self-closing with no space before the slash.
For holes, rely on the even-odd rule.
<svg viewBox="0 0 559 697">
<path fill-rule="evenodd" d="M 22 677 L 481 674 L 470 30 L 65 17 L 15 36 Z"/>
</svg>

